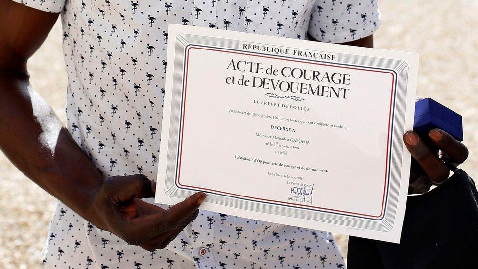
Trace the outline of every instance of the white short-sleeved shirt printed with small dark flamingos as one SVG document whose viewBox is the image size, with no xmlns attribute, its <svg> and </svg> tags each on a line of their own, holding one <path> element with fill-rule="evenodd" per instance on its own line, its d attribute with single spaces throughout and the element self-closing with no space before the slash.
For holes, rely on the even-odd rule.
<svg viewBox="0 0 478 269">
<path fill-rule="evenodd" d="M 156 178 L 168 24 L 335 43 L 380 24 L 377 0 L 15 1 L 61 13 L 68 129 L 104 177 Z M 61 269 L 345 267 L 328 232 L 200 211 L 166 249 L 148 252 L 60 201 L 42 255 Z"/>
</svg>

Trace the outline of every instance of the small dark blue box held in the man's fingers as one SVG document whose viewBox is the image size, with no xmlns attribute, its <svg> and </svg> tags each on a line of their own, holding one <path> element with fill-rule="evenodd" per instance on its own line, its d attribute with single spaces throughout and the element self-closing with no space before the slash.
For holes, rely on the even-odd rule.
<svg viewBox="0 0 478 269">
<path fill-rule="evenodd" d="M 428 136 L 428 132 L 434 128 L 442 129 L 458 141 L 463 141 L 461 115 L 431 98 L 417 101 L 413 130 Z"/>
</svg>

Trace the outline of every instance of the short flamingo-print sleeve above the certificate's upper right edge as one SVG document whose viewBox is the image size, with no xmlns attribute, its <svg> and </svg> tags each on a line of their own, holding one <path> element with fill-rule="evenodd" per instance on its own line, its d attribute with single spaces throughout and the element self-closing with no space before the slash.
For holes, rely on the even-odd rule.
<svg viewBox="0 0 478 269">
<path fill-rule="evenodd" d="M 318 41 L 344 43 L 373 34 L 379 25 L 378 0 L 317 0 L 308 32 Z"/>
</svg>

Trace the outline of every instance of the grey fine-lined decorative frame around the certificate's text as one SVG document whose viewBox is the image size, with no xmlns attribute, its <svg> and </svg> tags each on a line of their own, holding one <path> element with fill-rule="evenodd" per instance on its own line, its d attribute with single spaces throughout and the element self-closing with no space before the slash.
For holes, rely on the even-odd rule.
<svg viewBox="0 0 478 269">
<path fill-rule="evenodd" d="M 337 62 L 326 62 L 294 58 L 283 55 L 271 55 L 260 52 L 240 50 L 241 42 L 215 37 L 203 37 L 191 34 L 179 34 L 176 38 L 174 81 L 172 91 L 171 125 L 169 129 L 168 158 L 166 164 L 167 178 L 174 178 L 165 184 L 165 193 L 171 197 L 186 198 L 196 191 L 214 194 L 208 196 L 208 202 L 227 205 L 249 211 L 271 213 L 291 218 L 300 218 L 328 222 L 332 224 L 347 225 L 362 229 L 377 231 L 389 231 L 393 227 L 395 209 L 398 201 L 401 154 L 403 150 L 401 133 L 394 132 L 395 127 L 402 130 L 406 107 L 406 85 L 408 65 L 404 61 L 395 59 L 383 59 L 368 56 L 349 54 L 337 54 Z M 264 44 L 268 45 L 268 44 Z M 223 53 L 244 54 L 265 58 L 274 58 L 294 62 L 303 62 L 323 66 L 333 66 L 347 69 L 358 69 L 370 72 L 390 73 L 392 85 L 390 89 L 390 111 L 387 138 L 387 160 L 385 164 L 385 177 L 382 197 L 381 213 L 377 216 L 357 212 L 347 212 L 330 208 L 321 208 L 311 205 L 295 204 L 292 202 L 273 201 L 257 197 L 241 196 L 238 194 L 225 193 L 217 190 L 205 189 L 197 186 L 181 184 L 181 153 L 182 133 L 185 124 L 185 106 L 187 93 L 187 74 L 189 52 L 191 49 L 214 50 Z M 373 67 L 372 67 L 373 66 Z M 398 113 L 397 113 L 398 112 Z M 396 115 L 397 114 L 397 115 Z M 397 116 L 397 117 L 396 117 Z M 400 136 L 397 137 L 397 136 Z M 173 158 L 172 156 L 175 156 Z M 234 199 L 231 199 L 234 197 Z"/>
</svg>

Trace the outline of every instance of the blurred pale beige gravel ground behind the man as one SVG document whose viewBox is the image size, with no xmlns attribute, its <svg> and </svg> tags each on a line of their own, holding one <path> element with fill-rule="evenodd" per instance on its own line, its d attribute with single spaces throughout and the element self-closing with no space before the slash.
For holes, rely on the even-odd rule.
<svg viewBox="0 0 478 269">
<path fill-rule="evenodd" d="M 382 26 L 375 47 L 420 53 L 418 94 L 461 113 L 469 160 L 477 176 L 478 1 L 380 0 Z M 439 3 L 439 4 L 438 4 Z M 62 120 L 66 71 L 57 23 L 28 63 L 31 82 Z M 40 268 L 54 199 L 27 179 L 0 152 L 0 268 Z M 346 253 L 347 237 L 336 235 Z"/>
</svg>

